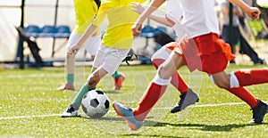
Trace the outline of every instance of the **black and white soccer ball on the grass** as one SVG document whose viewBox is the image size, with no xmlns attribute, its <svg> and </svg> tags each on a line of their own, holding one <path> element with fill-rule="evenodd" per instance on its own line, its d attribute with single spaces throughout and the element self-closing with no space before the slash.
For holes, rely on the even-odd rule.
<svg viewBox="0 0 268 138">
<path fill-rule="evenodd" d="M 100 90 L 91 90 L 82 99 L 82 109 L 90 118 L 102 118 L 109 110 L 108 96 Z"/>
</svg>

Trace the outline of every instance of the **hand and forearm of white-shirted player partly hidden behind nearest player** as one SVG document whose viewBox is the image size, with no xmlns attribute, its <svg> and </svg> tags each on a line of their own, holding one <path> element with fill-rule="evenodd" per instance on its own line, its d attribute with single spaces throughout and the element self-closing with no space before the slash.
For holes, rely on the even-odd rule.
<svg viewBox="0 0 268 138">
<path fill-rule="evenodd" d="M 131 3 L 131 10 L 134 12 L 138 12 L 138 14 L 141 14 L 142 12 L 145 11 L 145 7 L 139 3 L 132 2 Z M 168 26 L 168 27 L 173 26 L 173 24 L 170 21 L 166 20 L 166 18 L 161 16 L 161 15 L 151 13 L 148 18 L 151 20 L 155 20 L 156 22 L 161 23 L 161 24 Z"/>
</svg>

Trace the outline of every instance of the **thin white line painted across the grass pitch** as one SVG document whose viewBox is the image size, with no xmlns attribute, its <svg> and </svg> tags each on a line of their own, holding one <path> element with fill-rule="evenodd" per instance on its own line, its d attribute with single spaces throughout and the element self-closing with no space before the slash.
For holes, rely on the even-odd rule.
<svg viewBox="0 0 268 138">
<path fill-rule="evenodd" d="M 215 103 L 215 104 L 200 104 L 200 105 L 191 105 L 191 108 L 203 108 L 203 107 L 216 107 L 216 106 L 231 106 L 231 105 L 240 105 L 245 104 L 245 102 L 229 102 L 229 103 Z M 155 109 L 170 109 L 172 107 L 163 107 L 163 108 L 155 108 Z M 109 112 L 115 112 L 114 110 L 109 110 Z M 6 120 L 6 119 L 18 119 L 18 118 L 46 118 L 46 117 L 60 117 L 61 114 L 50 114 L 50 115 L 32 115 L 32 116 L 17 116 L 17 117 L 5 117 L 0 118 L 0 120 Z"/>
</svg>

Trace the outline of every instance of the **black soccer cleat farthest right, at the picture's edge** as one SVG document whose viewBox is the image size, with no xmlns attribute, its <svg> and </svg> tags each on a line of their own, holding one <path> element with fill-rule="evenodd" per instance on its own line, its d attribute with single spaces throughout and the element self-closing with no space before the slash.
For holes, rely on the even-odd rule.
<svg viewBox="0 0 268 138">
<path fill-rule="evenodd" d="M 257 100 L 258 104 L 252 108 L 253 117 L 249 123 L 261 124 L 265 114 L 268 112 L 268 105 L 264 101 Z"/>
</svg>

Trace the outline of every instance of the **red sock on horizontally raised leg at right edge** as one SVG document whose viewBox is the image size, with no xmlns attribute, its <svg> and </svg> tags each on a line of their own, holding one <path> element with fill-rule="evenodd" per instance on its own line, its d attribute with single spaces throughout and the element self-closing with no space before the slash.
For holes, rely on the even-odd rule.
<svg viewBox="0 0 268 138">
<path fill-rule="evenodd" d="M 235 71 L 239 85 L 258 85 L 268 82 L 268 68 L 264 69 L 239 69 Z"/>
</svg>

